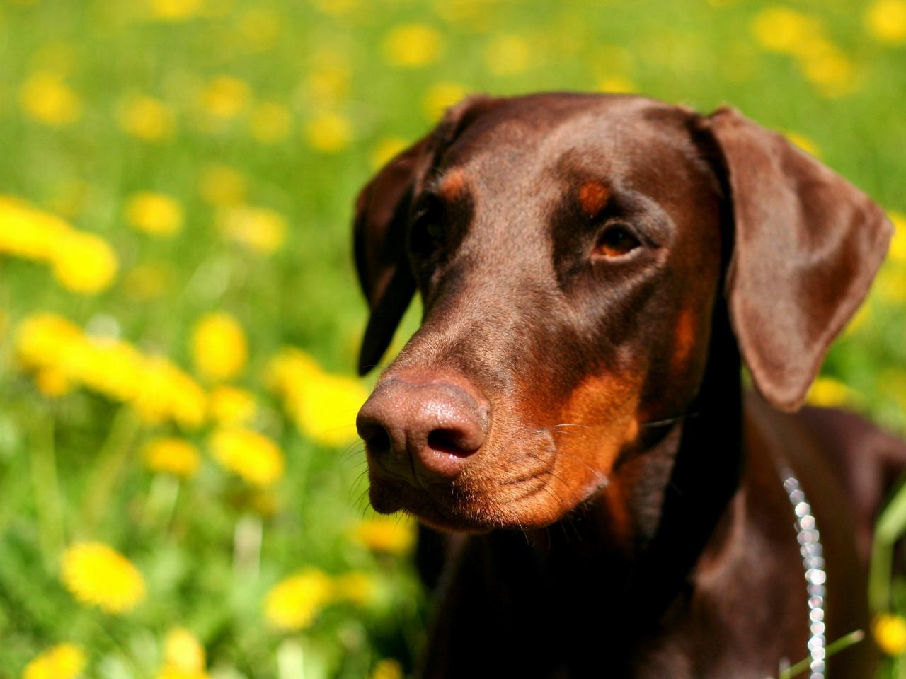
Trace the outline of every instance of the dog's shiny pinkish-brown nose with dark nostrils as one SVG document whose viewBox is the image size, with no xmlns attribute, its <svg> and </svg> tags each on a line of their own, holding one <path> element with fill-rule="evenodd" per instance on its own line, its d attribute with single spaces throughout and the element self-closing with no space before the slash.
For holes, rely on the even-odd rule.
<svg viewBox="0 0 906 679">
<path fill-rule="evenodd" d="M 455 478 L 487 434 L 487 406 L 470 390 L 448 381 L 385 380 L 356 418 L 372 461 L 413 484 Z"/>
</svg>

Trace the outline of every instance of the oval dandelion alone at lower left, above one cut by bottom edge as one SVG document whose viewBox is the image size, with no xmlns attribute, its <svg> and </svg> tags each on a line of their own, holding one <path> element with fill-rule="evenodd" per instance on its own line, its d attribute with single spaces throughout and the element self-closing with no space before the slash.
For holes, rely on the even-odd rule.
<svg viewBox="0 0 906 679">
<path fill-rule="evenodd" d="M 139 570 L 101 542 L 82 542 L 65 551 L 63 584 L 83 604 L 108 613 L 128 611 L 145 596 Z"/>
</svg>

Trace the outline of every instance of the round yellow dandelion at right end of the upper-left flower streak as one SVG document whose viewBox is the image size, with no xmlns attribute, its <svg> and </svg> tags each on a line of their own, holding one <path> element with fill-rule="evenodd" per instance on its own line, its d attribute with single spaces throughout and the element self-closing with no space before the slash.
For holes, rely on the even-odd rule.
<svg viewBox="0 0 906 679">
<path fill-rule="evenodd" d="M 107 241 L 71 231 L 54 244 L 53 277 L 72 292 L 101 292 L 110 287 L 120 263 Z"/>
</svg>

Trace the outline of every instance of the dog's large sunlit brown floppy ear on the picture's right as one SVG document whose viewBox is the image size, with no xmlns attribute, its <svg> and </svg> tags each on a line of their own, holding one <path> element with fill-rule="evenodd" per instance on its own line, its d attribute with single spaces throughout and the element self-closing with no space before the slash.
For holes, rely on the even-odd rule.
<svg viewBox="0 0 906 679">
<path fill-rule="evenodd" d="M 737 110 L 718 109 L 704 131 L 732 194 L 726 294 L 739 349 L 762 396 L 792 411 L 868 293 L 892 225 L 862 191 Z"/>
</svg>

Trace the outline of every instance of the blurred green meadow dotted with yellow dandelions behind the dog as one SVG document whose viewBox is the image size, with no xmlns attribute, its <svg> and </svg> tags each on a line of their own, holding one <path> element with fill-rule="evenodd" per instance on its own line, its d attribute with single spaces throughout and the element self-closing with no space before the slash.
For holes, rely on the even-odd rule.
<svg viewBox="0 0 906 679">
<path fill-rule="evenodd" d="M 906 0 L 0 0 L 0 677 L 410 670 L 352 201 L 467 93 L 538 90 L 731 103 L 884 206 L 811 400 L 903 434 Z"/>
</svg>

